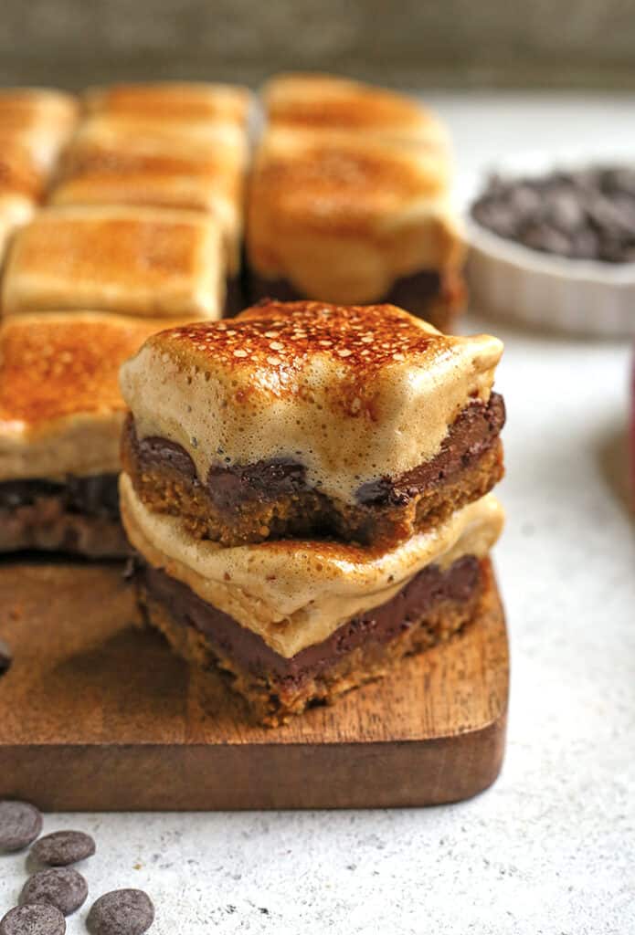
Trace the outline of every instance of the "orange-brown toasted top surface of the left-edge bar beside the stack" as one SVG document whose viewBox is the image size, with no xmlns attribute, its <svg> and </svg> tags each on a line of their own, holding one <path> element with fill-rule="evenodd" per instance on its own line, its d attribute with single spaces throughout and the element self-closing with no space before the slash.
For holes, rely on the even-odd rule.
<svg viewBox="0 0 635 935">
<path fill-rule="evenodd" d="M 119 367 L 156 325 L 69 314 L 0 328 L 0 428 L 124 410 Z"/>
</svg>

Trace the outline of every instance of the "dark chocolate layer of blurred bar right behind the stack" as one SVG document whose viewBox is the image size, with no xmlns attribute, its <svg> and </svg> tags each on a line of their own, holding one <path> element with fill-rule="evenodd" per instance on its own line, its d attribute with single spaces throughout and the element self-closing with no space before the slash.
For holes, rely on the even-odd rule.
<svg viewBox="0 0 635 935">
<path fill-rule="evenodd" d="M 249 298 L 252 305 L 263 298 L 295 302 L 307 297 L 300 295 L 288 280 L 268 280 L 254 271 L 250 273 Z M 434 324 L 440 331 L 449 331 L 455 315 L 465 304 L 465 285 L 461 274 L 454 270 L 441 274 L 436 269 L 421 269 L 410 276 L 399 277 L 386 295 L 378 297 L 376 302 L 396 305 Z"/>
</svg>

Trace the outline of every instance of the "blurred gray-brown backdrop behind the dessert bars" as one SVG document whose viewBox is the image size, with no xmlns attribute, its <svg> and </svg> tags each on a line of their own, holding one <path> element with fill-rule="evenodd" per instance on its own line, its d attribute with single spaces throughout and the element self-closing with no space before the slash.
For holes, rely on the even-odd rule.
<svg viewBox="0 0 635 935">
<path fill-rule="evenodd" d="M 413 87 L 635 86 L 635 0 L 0 0 L 0 82 L 255 84 L 280 68 Z"/>
</svg>

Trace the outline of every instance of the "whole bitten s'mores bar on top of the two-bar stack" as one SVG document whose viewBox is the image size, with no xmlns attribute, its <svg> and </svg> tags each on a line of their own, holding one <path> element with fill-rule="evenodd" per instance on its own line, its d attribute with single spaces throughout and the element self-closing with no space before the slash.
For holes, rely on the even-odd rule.
<svg viewBox="0 0 635 935">
<path fill-rule="evenodd" d="M 122 368 L 124 468 L 194 539 L 392 545 L 501 477 L 501 350 L 391 306 L 269 301 L 173 328 Z"/>
</svg>

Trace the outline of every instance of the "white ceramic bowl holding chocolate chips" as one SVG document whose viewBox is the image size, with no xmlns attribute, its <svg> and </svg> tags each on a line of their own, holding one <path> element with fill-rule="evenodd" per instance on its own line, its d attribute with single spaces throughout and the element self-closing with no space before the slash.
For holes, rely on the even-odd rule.
<svg viewBox="0 0 635 935">
<path fill-rule="evenodd" d="M 635 336 L 635 263 L 571 260 L 498 237 L 469 215 L 488 175 L 538 176 L 554 169 L 631 165 L 627 151 L 527 153 L 490 166 L 461 192 L 469 242 L 468 282 L 475 309 L 541 329 L 605 336 Z"/>
</svg>

